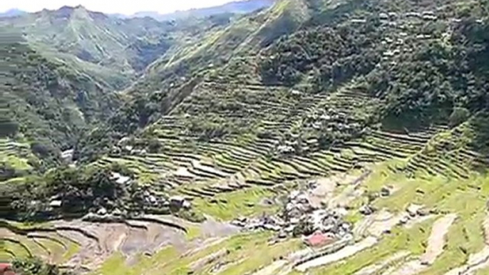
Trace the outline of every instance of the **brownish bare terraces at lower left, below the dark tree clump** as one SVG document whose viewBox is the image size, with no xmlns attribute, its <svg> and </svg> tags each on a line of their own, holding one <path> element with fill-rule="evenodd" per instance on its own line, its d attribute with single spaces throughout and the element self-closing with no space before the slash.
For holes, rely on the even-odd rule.
<svg viewBox="0 0 489 275">
<path fill-rule="evenodd" d="M 228 224 L 190 224 L 174 217 L 145 216 L 124 222 L 54 221 L 22 225 L 2 222 L 1 260 L 38 256 L 78 271 L 97 269 L 114 254 L 128 262 L 152 256 L 163 247 L 187 251 L 201 242 L 237 232 Z M 198 238 L 198 239 L 195 239 Z M 195 241 L 194 241 L 195 239 Z"/>
</svg>

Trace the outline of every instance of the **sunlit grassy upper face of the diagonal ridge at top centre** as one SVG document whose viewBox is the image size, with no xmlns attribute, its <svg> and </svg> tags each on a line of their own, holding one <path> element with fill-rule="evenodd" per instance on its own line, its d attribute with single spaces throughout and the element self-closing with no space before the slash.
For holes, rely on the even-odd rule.
<svg viewBox="0 0 489 275">
<path fill-rule="evenodd" d="M 254 54 L 254 50 L 263 46 L 261 43 L 274 41 L 296 30 L 309 18 L 307 12 L 307 6 L 302 0 L 280 0 L 272 8 L 243 16 L 230 26 L 186 38 L 153 62 L 145 78 L 129 90 L 158 90 L 162 82 L 168 81 L 165 78 L 175 71 L 182 76 L 192 76 L 207 71 L 209 66 L 220 66 L 232 56 L 247 57 Z M 175 79 L 170 81 L 175 82 Z"/>
</svg>

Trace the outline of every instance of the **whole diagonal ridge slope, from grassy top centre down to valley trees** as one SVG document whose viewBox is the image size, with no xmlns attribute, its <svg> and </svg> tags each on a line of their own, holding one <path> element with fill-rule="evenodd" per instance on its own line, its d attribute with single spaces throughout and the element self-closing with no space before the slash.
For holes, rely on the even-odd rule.
<svg viewBox="0 0 489 275">
<path fill-rule="evenodd" d="M 224 81 L 222 78 L 230 74 L 229 80 L 234 81 L 237 74 L 233 70 L 240 69 L 241 77 L 257 81 L 254 79 L 259 77 L 257 72 L 249 67 L 256 66 L 257 53 L 280 36 L 297 30 L 309 19 L 308 12 L 306 1 L 279 1 L 271 9 L 243 16 L 229 26 L 212 28 L 175 44 L 125 90 L 130 99 L 108 125 L 85 138 L 97 145 L 81 141 L 77 146 L 83 151 L 81 158 L 93 160 L 92 151 L 108 152 L 108 144 L 155 123 L 206 79 L 217 77 Z M 247 60 L 251 63 L 247 64 Z"/>
</svg>

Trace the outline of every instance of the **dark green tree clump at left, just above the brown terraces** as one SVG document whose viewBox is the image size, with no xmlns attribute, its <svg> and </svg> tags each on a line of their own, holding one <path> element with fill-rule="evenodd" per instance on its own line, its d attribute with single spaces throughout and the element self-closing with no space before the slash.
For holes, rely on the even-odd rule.
<svg viewBox="0 0 489 275">
<path fill-rule="evenodd" d="M 5 184 L 1 192 L 6 202 L 2 217 L 23 220 L 83 215 L 101 207 L 135 210 L 144 203 L 141 189 L 118 184 L 110 169 L 93 167 L 58 168 L 44 177 Z M 53 201 L 60 202 L 56 209 L 50 206 Z"/>
</svg>

